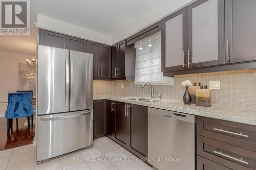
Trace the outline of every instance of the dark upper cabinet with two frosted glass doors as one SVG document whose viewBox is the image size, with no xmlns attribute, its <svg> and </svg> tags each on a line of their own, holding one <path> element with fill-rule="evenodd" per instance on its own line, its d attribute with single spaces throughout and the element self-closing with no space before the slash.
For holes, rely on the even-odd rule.
<svg viewBox="0 0 256 170">
<path fill-rule="evenodd" d="M 225 63 L 224 0 L 199 0 L 162 20 L 162 71 Z"/>
</svg>

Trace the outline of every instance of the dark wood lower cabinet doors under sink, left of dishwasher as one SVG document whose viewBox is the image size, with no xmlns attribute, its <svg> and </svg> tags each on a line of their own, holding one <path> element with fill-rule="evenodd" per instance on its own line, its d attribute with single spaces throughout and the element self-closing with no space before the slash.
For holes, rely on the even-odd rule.
<svg viewBox="0 0 256 170">
<path fill-rule="evenodd" d="M 134 155 L 147 157 L 147 107 L 107 101 L 106 136 Z"/>
</svg>

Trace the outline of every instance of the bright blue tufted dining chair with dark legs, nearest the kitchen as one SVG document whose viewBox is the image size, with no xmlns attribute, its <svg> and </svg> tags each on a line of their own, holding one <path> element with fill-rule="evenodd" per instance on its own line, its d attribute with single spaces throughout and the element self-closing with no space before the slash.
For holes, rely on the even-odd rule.
<svg viewBox="0 0 256 170">
<path fill-rule="evenodd" d="M 10 133 L 12 129 L 12 120 L 20 117 L 27 117 L 28 128 L 30 129 L 30 116 L 34 114 L 34 109 L 31 104 L 31 92 L 22 93 L 8 93 L 8 106 L 5 112 L 5 117 L 7 120 L 7 132 Z"/>
</svg>

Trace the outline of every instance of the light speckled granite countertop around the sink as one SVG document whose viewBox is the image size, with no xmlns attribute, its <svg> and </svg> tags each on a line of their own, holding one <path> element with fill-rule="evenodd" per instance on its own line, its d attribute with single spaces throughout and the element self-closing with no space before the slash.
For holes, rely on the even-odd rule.
<svg viewBox="0 0 256 170">
<path fill-rule="evenodd" d="M 194 104 L 184 105 L 182 101 L 175 100 L 161 100 L 161 102 L 142 102 L 132 101 L 126 98 L 132 98 L 133 96 L 123 95 L 94 95 L 94 100 L 107 99 L 118 102 L 132 103 L 137 105 L 143 105 L 147 107 L 159 108 L 164 110 L 177 111 L 187 114 L 194 114 L 198 116 L 205 116 L 211 118 L 218 118 L 222 120 L 228 120 L 231 122 L 238 122 L 248 125 L 256 126 L 256 109 L 255 108 L 241 108 L 230 107 L 222 105 L 212 105 L 211 107 L 196 106 Z"/>
</svg>

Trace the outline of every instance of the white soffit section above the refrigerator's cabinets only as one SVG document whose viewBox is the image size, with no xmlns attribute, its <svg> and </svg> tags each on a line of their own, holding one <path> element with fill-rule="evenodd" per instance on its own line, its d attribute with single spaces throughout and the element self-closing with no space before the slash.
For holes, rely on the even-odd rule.
<svg viewBox="0 0 256 170">
<path fill-rule="evenodd" d="M 82 27 L 72 25 L 71 23 L 63 22 L 40 14 L 37 14 L 37 27 L 112 45 L 110 35 L 84 29 Z"/>
</svg>

